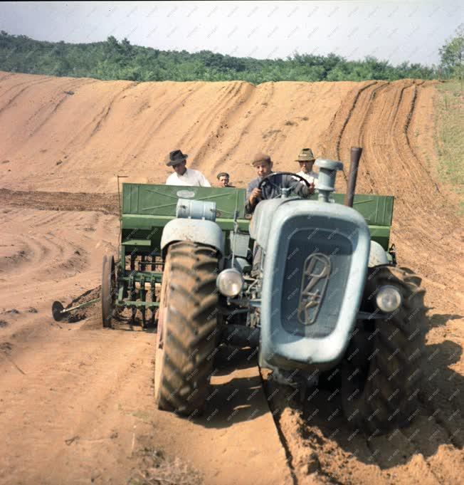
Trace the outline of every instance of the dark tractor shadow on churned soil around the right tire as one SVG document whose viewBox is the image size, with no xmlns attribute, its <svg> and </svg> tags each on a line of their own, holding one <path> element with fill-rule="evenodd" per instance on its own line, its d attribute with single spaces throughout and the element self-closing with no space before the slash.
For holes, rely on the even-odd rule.
<svg viewBox="0 0 464 485">
<path fill-rule="evenodd" d="M 308 392 L 305 402 L 297 402 L 293 390 L 285 388 L 287 397 L 280 395 L 271 401 L 271 409 L 282 412 L 290 402 L 290 409 L 299 416 L 301 425 L 295 427 L 295 433 L 302 447 L 311 449 L 315 443 L 322 446 L 334 440 L 344 452 L 381 469 L 406 464 L 416 454 L 431 457 L 443 444 L 461 450 L 464 377 L 450 367 L 459 362 L 462 352 L 451 340 L 426 345 L 423 382 L 411 424 L 382 436 L 369 437 L 349 427 L 342 414 L 340 393 L 334 394 L 334 390 L 317 387 Z M 269 383 L 266 387 L 268 395 L 275 390 Z"/>
</svg>

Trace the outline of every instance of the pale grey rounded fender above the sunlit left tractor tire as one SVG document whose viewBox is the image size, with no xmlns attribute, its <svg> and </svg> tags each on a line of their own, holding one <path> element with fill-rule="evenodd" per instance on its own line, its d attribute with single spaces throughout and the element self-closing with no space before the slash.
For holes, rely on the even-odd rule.
<svg viewBox="0 0 464 485">
<path fill-rule="evenodd" d="M 213 246 L 224 254 L 224 236 L 221 228 L 205 219 L 172 219 L 164 226 L 161 250 L 164 257 L 167 246 L 176 241 L 192 241 Z"/>
</svg>

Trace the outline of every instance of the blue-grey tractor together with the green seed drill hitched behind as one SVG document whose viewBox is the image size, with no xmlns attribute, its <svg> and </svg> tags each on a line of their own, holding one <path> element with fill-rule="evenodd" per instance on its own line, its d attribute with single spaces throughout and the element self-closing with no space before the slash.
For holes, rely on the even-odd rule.
<svg viewBox="0 0 464 485">
<path fill-rule="evenodd" d="M 317 194 L 282 188 L 252 217 L 245 189 L 122 184 L 102 324 L 128 308 L 133 323 L 139 312 L 157 325 L 160 410 L 200 415 L 226 344 L 255 348 L 260 367 L 303 393 L 339 370 L 344 416 L 366 433 L 413 419 L 424 291 L 389 246 L 394 197 L 354 194 L 360 155 L 352 149 L 346 195 L 334 192 L 342 162 L 317 159 Z"/>
</svg>

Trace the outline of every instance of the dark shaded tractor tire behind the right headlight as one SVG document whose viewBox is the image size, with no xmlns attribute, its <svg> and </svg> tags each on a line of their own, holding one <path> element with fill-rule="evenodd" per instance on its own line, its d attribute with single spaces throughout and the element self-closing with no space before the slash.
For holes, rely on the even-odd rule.
<svg viewBox="0 0 464 485">
<path fill-rule="evenodd" d="M 361 322 L 342 365 L 344 414 L 366 434 L 384 434 L 409 424 L 417 414 L 421 356 L 425 348 L 425 310 L 421 279 L 407 268 L 372 268 L 366 295 L 376 288 L 400 288 L 401 306 L 373 328 Z"/>
</svg>

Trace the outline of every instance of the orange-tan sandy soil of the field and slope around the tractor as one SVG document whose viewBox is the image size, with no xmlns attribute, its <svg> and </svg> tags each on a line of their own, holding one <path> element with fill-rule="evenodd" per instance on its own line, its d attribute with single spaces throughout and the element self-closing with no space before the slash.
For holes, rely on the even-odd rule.
<svg viewBox="0 0 464 485">
<path fill-rule="evenodd" d="M 179 484 L 461 483 L 463 223 L 436 176 L 435 89 L 0 73 L 0 484 L 121 484 L 140 471 Z M 227 170 L 243 187 L 255 151 L 294 170 L 301 147 L 346 162 L 352 145 L 364 148 L 358 191 L 395 195 L 392 242 L 427 291 L 426 385 L 401 432 L 352 436 L 337 398 L 301 405 L 228 350 L 209 412 L 179 419 L 154 408 L 153 333 L 124 318 L 103 330 L 96 306 L 51 318 L 54 300 L 97 291 L 115 254 L 116 174 L 164 182 L 181 148 L 211 182 Z"/>
</svg>

